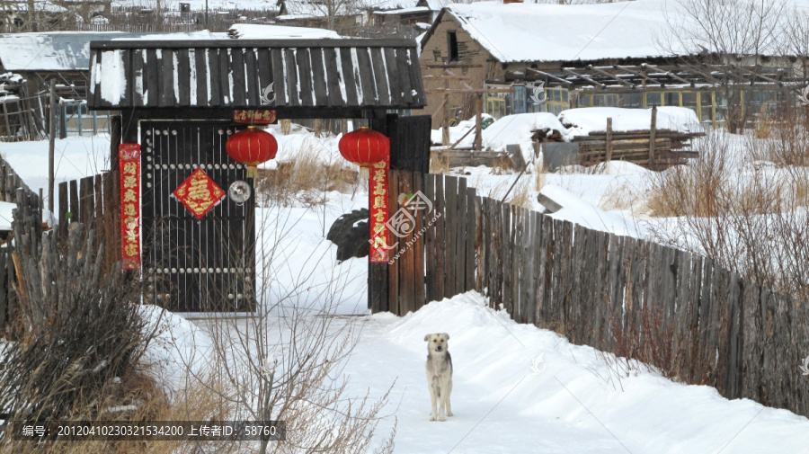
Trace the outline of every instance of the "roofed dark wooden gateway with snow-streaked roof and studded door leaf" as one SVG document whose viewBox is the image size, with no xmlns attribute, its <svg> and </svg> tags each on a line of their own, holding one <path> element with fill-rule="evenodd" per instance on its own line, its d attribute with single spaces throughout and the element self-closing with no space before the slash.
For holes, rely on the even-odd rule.
<svg viewBox="0 0 809 454">
<path fill-rule="evenodd" d="M 426 102 L 413 40 L 121 40 L 91 52 L 90 108 L 120 111 L 112 170 L 119 143 L 141 145 L 147 300 L 174 310 L 254 307 L 254 199 L 225 198 L 198 220 L 171 196 L 200 168 L 225 191 L 252 189 L 225 150 L 244 127 L 235 110 L 366 119 L 387 129 L 392 168 L 424 156 L 426 172 L 430 118 L 387 113 Z"/>
</svg>

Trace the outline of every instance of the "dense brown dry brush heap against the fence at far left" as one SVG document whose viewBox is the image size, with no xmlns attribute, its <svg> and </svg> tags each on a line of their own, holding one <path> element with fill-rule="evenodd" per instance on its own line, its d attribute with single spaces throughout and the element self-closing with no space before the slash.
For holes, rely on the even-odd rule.
<svg viewBox="0 0 809 454">
<path fill-rule="evenodd" d="M 21 218 L 15 222 L 22 228 Z M 96 250 L 96 244 L 92 231 L 85 235 L 74 224 L 61 254 L 55 231 L 43 236 L 41 251 L 20 247 L 14 253 L 29 272 L 16 284 L 15 341 L 0 353 L 0 412 L 9 421 L 123 420 L 164 403 L 139 365 L 154 335 L 138 310 L 140 283 L 105 273 L 103 246 Z M 0 447 L 39 450 L 9 436 Z"/>
</svg>

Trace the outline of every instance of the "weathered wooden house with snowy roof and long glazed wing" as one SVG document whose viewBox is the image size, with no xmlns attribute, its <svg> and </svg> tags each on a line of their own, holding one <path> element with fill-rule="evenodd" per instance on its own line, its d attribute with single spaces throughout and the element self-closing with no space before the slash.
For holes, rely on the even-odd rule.
<svg viewBox="0 0 809 454">
<path fill-rule="evenodd" d="M 422 37 L 427 109 L 471 117 L 575 107 L 682 106 L 708 127 L 751 122 L 807 85 L 806 56 L 725 56 L 673 37 L 671 2 L 478 2 L 441 10 Z M 668 5 L 668 6 L 667 6 Z M 433 115 L 438 128 L 441 115 Z"/>
</svg>

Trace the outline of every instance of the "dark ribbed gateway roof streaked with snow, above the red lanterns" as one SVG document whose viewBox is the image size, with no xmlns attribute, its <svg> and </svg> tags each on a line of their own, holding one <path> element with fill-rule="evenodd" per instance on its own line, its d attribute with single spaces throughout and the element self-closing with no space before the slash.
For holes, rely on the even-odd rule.
<svg viewBox="0 0 809 454">
<path fill-rule="evenodd" d="M 426 104 L 414 40 L 140 40 L 91 51 L 91 108 Z"/>
</svg>

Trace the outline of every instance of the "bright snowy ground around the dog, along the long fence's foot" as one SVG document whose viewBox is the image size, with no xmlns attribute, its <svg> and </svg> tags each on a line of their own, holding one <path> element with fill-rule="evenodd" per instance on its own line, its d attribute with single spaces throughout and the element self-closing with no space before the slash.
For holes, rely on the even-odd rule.
<svg viewBox="0 0 809 454">
<path fill-rule="evenodd" d="M 804 417 L 650 372 L 618 381 L 590 347 L 514 324 L 482 301 L 467 294 L 402 318 L 360 322 L 345 372 L 357 395 L 370 389 L 379 396 L 396 380 L 387 411 L 398 419 L 396 452 L 809 452 Z M 422 340 L 444 331 L 455 365 L 455 416 L 430 423 Z"/>
</svg>

